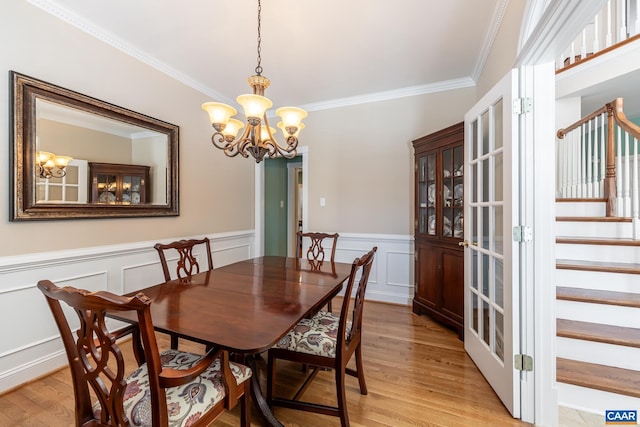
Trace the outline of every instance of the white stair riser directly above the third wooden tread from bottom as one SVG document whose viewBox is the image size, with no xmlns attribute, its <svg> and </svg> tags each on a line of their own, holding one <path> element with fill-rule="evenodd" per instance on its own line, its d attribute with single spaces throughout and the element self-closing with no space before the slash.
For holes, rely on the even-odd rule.
<svg viewBox="0 0 640 427">
<path fill-rule="evenodd" d="M 640 293 L 640 274 L 556 269 L 560 286 Z"/>
</svg>

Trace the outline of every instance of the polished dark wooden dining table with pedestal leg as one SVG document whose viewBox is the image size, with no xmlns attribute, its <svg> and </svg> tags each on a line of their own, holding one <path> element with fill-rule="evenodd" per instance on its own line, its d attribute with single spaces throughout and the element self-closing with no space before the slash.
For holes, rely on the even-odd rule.
<svg viewBox="0 0 640 427">
<path fill-rule="evenodd" d="M 351 264 L 262 256 L 130 293 L 151 299 L 156 331 L 228 350 L 254 374 L 251 394 L 268 425 L 282 426 L 262 393 L 256 361 L 349 278 Z M 135 323 L 135 313 L 113 313 Z"/>
</svg>

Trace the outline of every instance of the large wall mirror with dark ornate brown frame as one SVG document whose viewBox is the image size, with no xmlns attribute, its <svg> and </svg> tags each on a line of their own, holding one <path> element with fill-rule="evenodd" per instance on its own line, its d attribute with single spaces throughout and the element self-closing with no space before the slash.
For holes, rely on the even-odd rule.
<svg viewBox="0 0 640 427">
<path fill-rule="evenodd" d="M 179 214 L 177 125 L 10 76 L 12 221 Z"/>
</svg>

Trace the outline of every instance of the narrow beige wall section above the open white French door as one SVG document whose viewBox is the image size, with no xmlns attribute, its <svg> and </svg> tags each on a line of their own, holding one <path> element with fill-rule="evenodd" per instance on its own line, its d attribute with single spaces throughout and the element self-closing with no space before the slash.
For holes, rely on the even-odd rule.
<svg viewBox="0 0 640 427">
<path fill-rule="evenodd" d="M 476 82 L 478 99 L 500 81 L 515 63 L 525 4 L 525 1 L 510 1 L 507 5 L 487 62 Z"/>
</svg>

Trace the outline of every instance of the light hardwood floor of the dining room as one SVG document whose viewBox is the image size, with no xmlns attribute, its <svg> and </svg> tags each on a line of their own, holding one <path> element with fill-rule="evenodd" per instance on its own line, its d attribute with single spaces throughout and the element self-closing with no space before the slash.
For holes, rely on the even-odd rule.
<svg viewBox="0 0 640 427">
<path fill-rule="evenodd" d="M 334 309 L 338 304 L 334 302 Z M 363 334 L 369 394 L 360 395 L 357 379 L 348 377 L 347 400 L 353 427 L 529 425 L 511 417 L 456 334 L 429 317 L 417 316 L 405 306 L 367 302 Z M 168 347 L 164 336 L 160 341 Z M 200 350 L 184 341 L 180 348 Z M 303 374 L 299 367 L 285 362 L 278 366 L 282 369 L 279 390 L 287 393 L 302 381 Z M 325 371 L 303 398 L 333 404 L 334 395 L 333 373 Z M 275 414 L 288 427 L 340 426 L 338 418 L 325 415 L 285 408 L 276 408 Z M 262 425 L 255 413 L 252 424 Z M 71 425 L 73 391 L 66 368 L 0 396 L 0 426 Z M 212 425 L 239 425 L 237 409 Z"/>
</svg>

